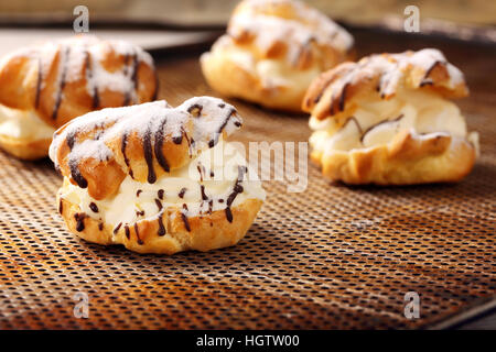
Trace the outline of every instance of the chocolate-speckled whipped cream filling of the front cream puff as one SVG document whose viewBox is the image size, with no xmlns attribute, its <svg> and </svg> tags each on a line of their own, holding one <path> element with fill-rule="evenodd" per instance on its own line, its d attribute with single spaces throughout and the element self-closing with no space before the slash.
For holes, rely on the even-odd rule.
<svg viewBox="0 0 496 352">
<path fill-rule="evenodd" d="M 61 198 L 77 204 L 86 216 L 114 228 L 157 218 L 168 208 L 180 209 L 183 219 L 225 210 L 230 222 L 230 208 L 247 199 L 263 201 L 266 198 L 261 182 L 245 157 L 224 141 L 154 184 L 139 183 L 127 176 L 109 199 L 95 200 L 87 188 L 72 185 L 67 178 L 63 189 Z"/>
</svg>

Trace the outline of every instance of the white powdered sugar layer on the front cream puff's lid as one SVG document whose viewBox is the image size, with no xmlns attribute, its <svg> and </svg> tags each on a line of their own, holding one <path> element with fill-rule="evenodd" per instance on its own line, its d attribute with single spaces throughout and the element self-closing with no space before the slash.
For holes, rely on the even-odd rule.
<svg viewBox="0 0 496 352">
<path fill-rule="evenodd" d="M 191 120 L 193 130 L 187 133 L 184 127 Z M 73 136 L 69 160 L 91 157 L 108 161 L 114 155 L 107 142 L 131 132 L 141 138 L 148 134 L 152 140 L 158 134 L 165 140 L 185 136 L 190 143 L 190 155 L 195 156 L 200 151 L 213 147 L 223 132 L 230 134 L 240 125 L 241 118 L 236 109 L 222 99 L 212 97 L 192 98 L 177 108 L 172 108 L 164 100 L 107 108 L 74 119 L 56 131 L 50 146 L 50 157 L 58 166 L 56 155 L 61 143 Z M 78 141 L 77 135 L 90 131 L 98 132 L 93 139 Z"/>
</svg>

